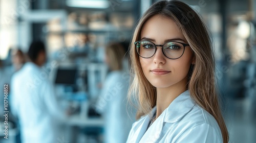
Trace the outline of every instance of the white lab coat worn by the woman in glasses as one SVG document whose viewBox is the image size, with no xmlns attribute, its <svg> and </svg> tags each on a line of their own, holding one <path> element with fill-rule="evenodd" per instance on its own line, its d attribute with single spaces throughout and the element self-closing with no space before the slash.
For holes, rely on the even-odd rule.
<svg viewBox="0 0 256 143">
<path fill-rule="evenodd" d="M 156 107 L 152 110 L 155 112 Z M 222 142 L 217 121 L 190 98 L 188 90 L 180 94 L 147 129 L 149 122 L 148 115 L 135 122 L 127 142 Z"/>
</svg>

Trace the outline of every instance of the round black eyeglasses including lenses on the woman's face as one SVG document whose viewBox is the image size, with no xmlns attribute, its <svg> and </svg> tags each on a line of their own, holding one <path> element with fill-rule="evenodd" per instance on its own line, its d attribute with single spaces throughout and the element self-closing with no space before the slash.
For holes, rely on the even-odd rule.
<svg viewBox="0 0 256 143">
<path fill-rule="evenodd" d="M 164 43 L 163 45 L 155 44 L 151 41 L 137 41 L 134 42 L 136 46 L 136 51 L 142 58 L 151 58 L 155 55 L 157 51 L 157 46 L 162 47 L 163 55 L 169 59 L 178 59 L 180 58 L 184 51 L 185 47 L 189 46 L 189 44 L 169 41 Z"/>
</svg>

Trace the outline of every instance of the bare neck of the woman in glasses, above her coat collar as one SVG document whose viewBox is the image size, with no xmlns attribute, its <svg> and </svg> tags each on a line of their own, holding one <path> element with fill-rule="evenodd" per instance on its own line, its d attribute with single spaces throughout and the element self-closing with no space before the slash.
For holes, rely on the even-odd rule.
<svg viewBox="0 0 256 143">
<path fill-rule="evenodd" d="M 181 93 L 187 90 L 187 79 L 183 79 L 167 88 L 157 88 L 157 115 L 159 117 L 162 112 L 172 103 Z"/>
</svg>

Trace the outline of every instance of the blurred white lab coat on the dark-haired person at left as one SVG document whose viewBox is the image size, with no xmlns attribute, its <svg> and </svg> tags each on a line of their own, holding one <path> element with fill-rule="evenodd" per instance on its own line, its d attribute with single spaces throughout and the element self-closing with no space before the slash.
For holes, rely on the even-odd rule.
<svg viewBox="0 0 256 143">
<path fill-rule="evenodd" d="M 10 89 L 11 111 L 18 117 L 22 142 L 57 142 L 56 121 L 64 115 L 58 109 L 45 71 L 34 63 L 26 63 L 13 75 Z"/>
</svg>

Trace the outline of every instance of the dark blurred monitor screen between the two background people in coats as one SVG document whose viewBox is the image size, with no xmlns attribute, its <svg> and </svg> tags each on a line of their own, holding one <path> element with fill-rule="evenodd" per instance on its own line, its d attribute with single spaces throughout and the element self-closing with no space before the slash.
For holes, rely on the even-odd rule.
<svg viewBox="0 0 256 143">
<path fill-rule="evenodd" d="M 75 85 L 77 77 L 76 69 L 57 69 L 55 84 Z"/>
</svg>

